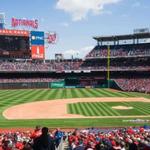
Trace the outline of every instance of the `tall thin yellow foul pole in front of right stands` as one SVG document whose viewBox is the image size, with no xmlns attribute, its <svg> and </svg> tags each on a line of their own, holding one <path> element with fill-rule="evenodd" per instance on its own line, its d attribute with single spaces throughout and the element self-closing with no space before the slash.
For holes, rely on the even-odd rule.
<svg viewBox="0 0 150 150">
<path fill-rule="evenodd" d="M 110 45 L 107 45 L 107 88 L 110 88 Z"/>
</svg>

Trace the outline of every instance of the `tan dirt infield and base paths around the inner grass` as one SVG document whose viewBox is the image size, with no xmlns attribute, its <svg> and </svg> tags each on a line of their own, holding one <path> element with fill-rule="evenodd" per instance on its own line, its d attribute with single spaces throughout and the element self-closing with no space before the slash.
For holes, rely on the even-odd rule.
<svg viewBox="0 0 150 150">
<path fill-rule="evenodd" d="M 83 116 L 67 113 L 67 104 L 78 102 L 149 102 L 146 98 L 75 98 L 38 101 L 12 106 L 3 112 L 6 119 L 62 119 L 62 118 L 125 118 L 148 116 Z"/>
</svg>

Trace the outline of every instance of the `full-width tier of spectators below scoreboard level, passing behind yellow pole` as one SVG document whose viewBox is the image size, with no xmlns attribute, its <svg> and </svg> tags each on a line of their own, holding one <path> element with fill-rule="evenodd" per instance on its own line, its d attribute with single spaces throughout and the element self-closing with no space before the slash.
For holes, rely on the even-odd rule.
<svg viewBox="0 0 150 150">
<path fill-rule="evenodd" d="M 138 61 L 139 60 L 139 61 Z M 136 59 L 133 60 L 112 60 L 111 70 L 145 70 L 150 69 L 149 60 Z M 48 71 L 76 71 L 76 70 L 107 70 L 107 62 L 105 61 L 93 61 L 86 60 L 83 62 L 51 62 L 51 63 L 22 63 L 22 62 L 1 62 L 0 71 L 1 72 L 48 72 Z"/>
</svg>

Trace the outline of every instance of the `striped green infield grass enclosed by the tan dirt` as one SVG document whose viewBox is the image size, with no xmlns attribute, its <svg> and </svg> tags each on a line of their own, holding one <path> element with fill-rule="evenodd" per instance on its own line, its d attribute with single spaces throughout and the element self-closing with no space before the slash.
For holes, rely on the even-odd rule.
<svg viewBox="0 0 150 150">
<path fill-rule="evenodd" d="M 113 109 L 115 106 L 133 109 Z M 83 116 L 142 116 L 150 115 L 150 103 L 144 102 L 93 102 L 68 104 L 68 113 Z"/>
</svg>

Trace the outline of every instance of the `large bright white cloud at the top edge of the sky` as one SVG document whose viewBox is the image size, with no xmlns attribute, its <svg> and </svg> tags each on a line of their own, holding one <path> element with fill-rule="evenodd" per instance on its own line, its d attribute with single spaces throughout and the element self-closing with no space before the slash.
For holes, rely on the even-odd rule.
<svg viewBox="0 0 150 150">
<path fill-rule="evenodd" d="M 69 13 L 73 21 L 85 19 L 89 13 L 94 15 L 104 11 L 104 6 L 116 4 L 121 0 L 58 0 L 56 8 Z"/>
</svg>

